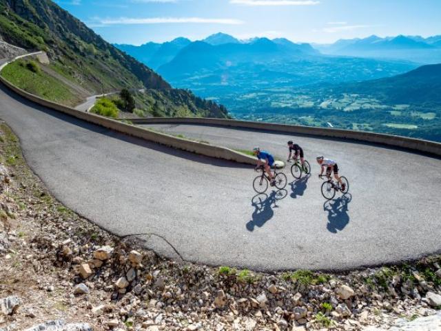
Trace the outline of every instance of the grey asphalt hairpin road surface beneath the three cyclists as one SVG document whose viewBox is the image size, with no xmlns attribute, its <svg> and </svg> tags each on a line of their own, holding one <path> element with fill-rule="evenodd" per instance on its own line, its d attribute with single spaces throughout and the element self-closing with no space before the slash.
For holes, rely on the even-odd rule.
<svg viewBox="0 0 441 331">
<path fill-rule="evenodd" d="M 117 134 L 3 86 L 0 117 L 57 199 L 166 257 L 256 270 L 340 270 L 441 248 L 439 159 L 299 137 L 309 159 L 325 154 L 338 161 L 351 194 L 325 203 L 314 175 L 256 197 L 256 174 L 247 166 Z M 199 126 L 170 130 L 225 146 L 258 144 L 281 156 L 285 141 L 295 138 Z"/>
</svg>

